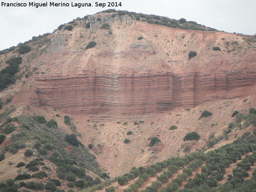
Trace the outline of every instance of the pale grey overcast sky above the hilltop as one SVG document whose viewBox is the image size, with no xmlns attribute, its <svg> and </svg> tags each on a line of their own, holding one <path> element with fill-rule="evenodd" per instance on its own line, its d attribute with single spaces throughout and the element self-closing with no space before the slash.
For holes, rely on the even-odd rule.
<svg viewBox="0 0 256 192">
<path fill-rule="evenodd" d="M 46 3 L 47 7 L 28 6 L 29 2 Z M 50 2 L 69 3 L 69 7 L 50 7 Z M 105 7 L 96 7 L 96 2 Z M 171 19 L 185 18 L 206 27 L 229 33 L 256 33 L 256 0 L 115 0 L 118 7 L 108 7 L 105 0 L 1 0 L 0 1 L 0 50 L 16 46 L 33 36 L 53 32 L 60 24 L 77 17 L 116 9 L 155 14 Z M 2 3 L 27 3 L 26 7 L 7 7 Z M 92 7 L 72 7 L 71 3 L 91 3 Z"/>
</svg>

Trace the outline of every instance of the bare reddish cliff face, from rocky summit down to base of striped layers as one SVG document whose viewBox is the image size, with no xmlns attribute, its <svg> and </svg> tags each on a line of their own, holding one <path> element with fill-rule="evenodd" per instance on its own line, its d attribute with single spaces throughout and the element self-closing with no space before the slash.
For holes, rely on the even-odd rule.
<svg viewBox="0 0 256 192">
<path fill-rule="evenodd" d="M 110 30 L 100 29 L 105 22 Z M 77 23 L 72 32 L 54 32 L 45 53 L 31 61 L 46 74 L 33 76 L 30 104 L 95 119 L 138 119 L 225 98 L 219 93 L 256 83 L 255 43 L 248 45 L 247 37 L 103 13 Z M 97 45 L 84 50 L 89 41 Z M 188 60 L 190 51 L 197 55 Z"/>
</svg>

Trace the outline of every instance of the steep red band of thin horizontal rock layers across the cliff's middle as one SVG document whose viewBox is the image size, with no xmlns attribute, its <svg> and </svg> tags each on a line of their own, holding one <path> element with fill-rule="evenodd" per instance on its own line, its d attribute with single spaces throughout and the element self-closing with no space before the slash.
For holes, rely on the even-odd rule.
<svg viewBox="0 0 256 192">
<path fill-rule="evenodd" d="M 174 107 L 194 107 L 216 99 L 215 92 L 256 83 L 256 71 L 177 76 L 95 75 L 37 79 L 39 104 L 96 119 L 138 119 Z"/>
</svg>

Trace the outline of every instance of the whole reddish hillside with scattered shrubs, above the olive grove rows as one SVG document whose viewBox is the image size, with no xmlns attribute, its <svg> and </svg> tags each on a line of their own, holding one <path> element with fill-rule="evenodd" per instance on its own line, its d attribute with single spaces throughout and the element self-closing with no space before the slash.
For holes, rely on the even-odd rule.
<svg viewBox="0 0 256 192">
<path fill-rule="evenodd" d="M 88 188 L 254 131 L 255 36 L 158 17 L 100 12 L 0 52 L 0 180 L 33 175 L 16 167 L 32 161 L 47 176 L 27 181 Z"/>
</svg>

